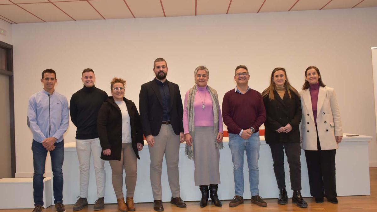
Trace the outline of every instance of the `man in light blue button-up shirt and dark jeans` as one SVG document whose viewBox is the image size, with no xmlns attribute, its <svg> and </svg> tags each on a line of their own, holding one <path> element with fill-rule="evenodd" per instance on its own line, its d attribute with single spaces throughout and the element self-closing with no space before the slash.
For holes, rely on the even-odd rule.
<svg viewBox="0 0 377 212">
<path fill-rule="evenodd" d="M 63 134 L 68 129 L 69 109 L 67 98 L 55 91 L 56 73 L 52 69 L 42 72 L 43 90 L 29 98 L 28 127 L 33 133 L 34 210 L 43 209 L 43 174 L 47 152 L 50 152 L 55 209 L 64 212 L 63 204 Z"/>
</svg>

